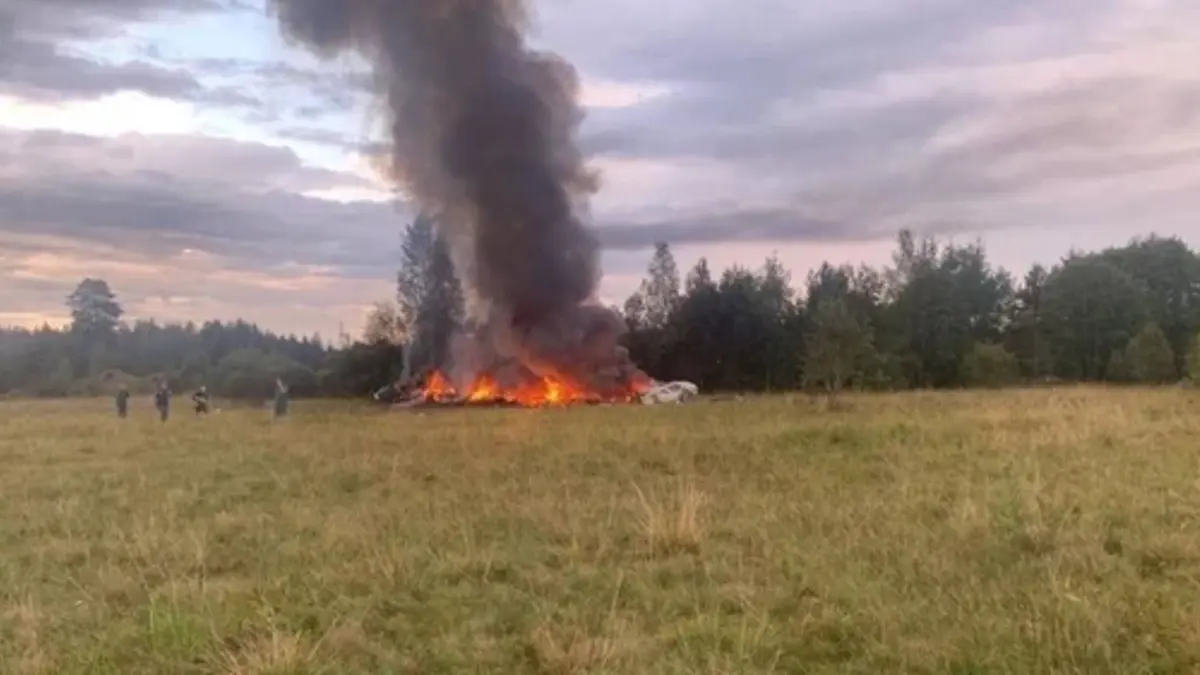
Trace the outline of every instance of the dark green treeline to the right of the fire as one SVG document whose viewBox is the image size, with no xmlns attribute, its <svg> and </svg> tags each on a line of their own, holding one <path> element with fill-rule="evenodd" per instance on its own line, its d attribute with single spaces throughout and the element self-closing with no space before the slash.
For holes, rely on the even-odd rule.
<svg viewBox="0 0 1200 675">
<path fill-rule="evenodd" d="M 659 244 L 624 315 L 648 372 L 704 390 L 1200 377 L 1200 259 L 1176 238 L 1018 280 L 978 243 L 902 232 L 887 269 L 824 264 L 799 288 L 776 258 L 719 276 L 701 259 L 680 279 Z"/>
</svg>

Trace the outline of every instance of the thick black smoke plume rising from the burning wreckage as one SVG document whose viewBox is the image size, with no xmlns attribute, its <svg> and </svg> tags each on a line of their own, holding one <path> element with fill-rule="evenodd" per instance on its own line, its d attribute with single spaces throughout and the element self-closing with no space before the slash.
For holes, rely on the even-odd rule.
<svg viewBox="0 0 1200 675">
<path fill-rule="evenodd" d="M 575 68 L 530 49 L 520 0 L 271 0 L 284 35 L 372 66 L 391 175 L 439 214 L 472 329 L 458 371 L 552 371 L 595 389 L 644 378 L 624 324 L 594 305 L 596 190 L 576 144 Z M 502 368 L 503 366 L 503 368 Z M 516 377 L 516 376 L 514 376 Z"/>
</svg>

